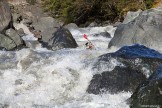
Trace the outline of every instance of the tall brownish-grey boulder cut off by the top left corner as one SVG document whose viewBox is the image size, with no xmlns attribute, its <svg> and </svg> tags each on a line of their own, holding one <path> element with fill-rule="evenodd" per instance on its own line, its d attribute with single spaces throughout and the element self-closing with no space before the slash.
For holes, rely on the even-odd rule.
<svg viewBox="0 0 162 108">
<path fill-rule="evenodd" d="M 11 11 L 6 0 L 0 0 L 0 32 L 8 27 L 11 21 Z"/>
</svg>

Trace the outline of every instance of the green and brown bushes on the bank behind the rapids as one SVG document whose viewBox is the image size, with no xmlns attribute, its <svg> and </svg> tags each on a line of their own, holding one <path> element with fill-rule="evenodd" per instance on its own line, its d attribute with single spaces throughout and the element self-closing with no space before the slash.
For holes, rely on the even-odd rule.
<svg viewBox="0 0 162 108">
<path fill-rule="evenodd" d="M 45 11 L 65 23 L 121 20 L 127 11 L 151 8 L 154 0 L 42 0 Z"/>
</svg>

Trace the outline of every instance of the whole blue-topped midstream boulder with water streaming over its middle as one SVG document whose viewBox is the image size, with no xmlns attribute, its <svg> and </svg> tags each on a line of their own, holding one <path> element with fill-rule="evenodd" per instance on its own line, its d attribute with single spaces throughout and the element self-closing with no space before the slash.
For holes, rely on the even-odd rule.
<svg viewBox="0 0 162 108">
<path fill-rule="evenodd" d="M 162 54 L 138 44 L 101 55 L 93 66 L 97 74 L 93 76 L 87 92 L 134 92 L 161 63 Z"/>
</svg>

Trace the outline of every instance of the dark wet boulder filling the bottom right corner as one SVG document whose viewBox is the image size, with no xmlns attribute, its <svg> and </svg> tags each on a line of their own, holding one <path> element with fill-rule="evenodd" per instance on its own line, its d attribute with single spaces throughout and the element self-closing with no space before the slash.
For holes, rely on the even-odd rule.
<svg viewBox="0 0 162 108">
<path fill-rule="evenodd" d="M 131 96 L 131 108 L 162 107 L 162 64 Z"/>
</svg>

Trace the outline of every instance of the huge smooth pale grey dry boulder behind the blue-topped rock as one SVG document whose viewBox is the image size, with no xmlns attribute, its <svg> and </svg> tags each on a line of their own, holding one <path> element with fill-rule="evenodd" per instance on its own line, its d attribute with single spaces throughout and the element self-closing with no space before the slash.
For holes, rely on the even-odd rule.
<svg viewBox="0 0 162 108">
<path fill-rule="evenodd" d="M 162 10 L 149 9 L 141 12 L 134 20 L 125 21 L 117 27 L 108 47 L 122 47 L 135 43 L 158 49 L 162 46 Z"/>
</svg>

